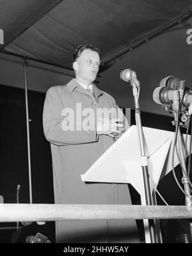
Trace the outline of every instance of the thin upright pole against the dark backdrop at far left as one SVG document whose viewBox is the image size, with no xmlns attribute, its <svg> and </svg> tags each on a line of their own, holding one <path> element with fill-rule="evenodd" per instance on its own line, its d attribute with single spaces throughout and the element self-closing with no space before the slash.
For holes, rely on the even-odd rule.
<svg viewBox="0 0 192 256">
<path fill-rule="evenodd" d="M 26 99 L 26 125 L 28 136 L 28 170 L 29 170 L 29 201 L 32 204 L 32 184 L 31 184 L 31 154 L 30 154 L 30 139 L 29 139 L 29 109 L 28 109 L 28 83 L 27 83 L 27 62 L 24 60 L 24 87 Z"/>
</svg>

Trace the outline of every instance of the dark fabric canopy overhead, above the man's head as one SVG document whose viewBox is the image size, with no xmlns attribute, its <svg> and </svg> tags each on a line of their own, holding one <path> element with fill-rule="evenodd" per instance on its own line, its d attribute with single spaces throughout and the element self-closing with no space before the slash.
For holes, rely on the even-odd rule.
<svg viewBox="0 0 192 256">
<path fill-rule="evenodd" d="M 93 44 L 104 70 L 191 16 L 191 0 L 1 0 L 0 50 L 70 68 L 74 49 Z"/>
</svg>

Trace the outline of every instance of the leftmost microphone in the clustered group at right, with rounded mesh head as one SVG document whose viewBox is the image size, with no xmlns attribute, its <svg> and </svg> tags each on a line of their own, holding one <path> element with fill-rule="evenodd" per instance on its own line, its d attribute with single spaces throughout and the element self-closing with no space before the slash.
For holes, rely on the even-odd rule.
<svg viewBox="0 0 192 256">
<path fill-rule="evenodd" d="M 153 93 L 154 102 L 157 104 L 172 104 L 173 109 L 179 110 L 179 91 L 168 87 L 157 87 Z"/>
</svg>

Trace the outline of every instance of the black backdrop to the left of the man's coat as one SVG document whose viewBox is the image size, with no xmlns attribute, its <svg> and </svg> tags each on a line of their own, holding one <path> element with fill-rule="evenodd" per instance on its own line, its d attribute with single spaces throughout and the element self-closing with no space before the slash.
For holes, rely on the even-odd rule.
<svg viewBox="0 0 192 256">
<path fill-rule="evenodd" d="M 20 184 L 19 202 L 29 203 L 28 143 L 26 129 L 25 92 L 10 86 L 0 86 L 0 195 L 4 203 L 16 204 L 17 184 Z M 53 204 L 52 162 L 50 143 L 42 128 L 45 93 L 28 91 L 31 179 L 33 204 Z M 15 227 L 16 223 L 1 223 L 2 227 Z M 22 225 L 20 225 L 22 227 Z M 0 230 L 0 243 L 10 243 L 15 230 Z M 13 237 L 24 242 L 28 235 L 41 232 L 54 242 L 54 222 L 45 225 L 33 223 L 22 228 Z M 17 236 L 18 235 L 18 236 Z"/>
</svg>

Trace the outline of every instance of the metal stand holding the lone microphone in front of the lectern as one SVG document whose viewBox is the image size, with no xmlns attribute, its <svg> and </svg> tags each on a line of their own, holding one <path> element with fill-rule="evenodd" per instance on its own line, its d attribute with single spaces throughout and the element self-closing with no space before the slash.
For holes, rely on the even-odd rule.
<svg viewBox="0 0 192 256">
<path fill-rule="evenodd" d="M 136 127 L 138 130 L 138 137 L 139 137 L 139 142 L 140 142 L 139 143 L 140 144 L 140 163 L 141 163 L 141 168 L 143 170 L 145 199 L 146 199 L 147 205 L 152 205 L 152 197 L 151 197 L 151 193 L 150 193 L 150 183 L 149 183 L 149 179 L 148 179 L 148 161 L 147 161 L 147 156 L 145 156 L 144 136 L 143 136 L 143 129 L 142 129 L 142 125 L 141 125 L 140 107 L 139 107 L 139 102 L 138 102 L 138 88 L 137 88 L 138 84 L 132 78 L 134 78 L 134 77 L 131 77 L 130 81 L 131 81 L 131 86 L 132 86 L 132 93 L 134 96 L 135 120 L 136 120 Z M 148 227 L 149 227 L 149 232 L 150 232 L 151 243 L 157 243 L 154 220 L 148 220 Z"/>
</svg>

